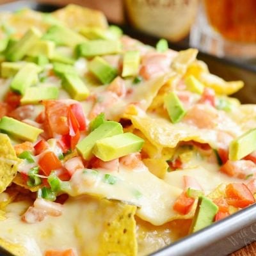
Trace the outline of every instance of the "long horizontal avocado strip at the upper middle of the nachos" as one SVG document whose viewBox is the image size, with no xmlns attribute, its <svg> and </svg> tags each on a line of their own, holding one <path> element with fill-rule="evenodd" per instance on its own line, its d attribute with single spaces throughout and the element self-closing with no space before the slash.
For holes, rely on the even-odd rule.
<svg viewBox="0 0 256 256">
<path fill-rule="evenodd" d="M 91 40 L 77 45 L 77 54 L 83 57 L 94 57 L 115 54 L 122 49 L 119 40 Z"/>
</svg>

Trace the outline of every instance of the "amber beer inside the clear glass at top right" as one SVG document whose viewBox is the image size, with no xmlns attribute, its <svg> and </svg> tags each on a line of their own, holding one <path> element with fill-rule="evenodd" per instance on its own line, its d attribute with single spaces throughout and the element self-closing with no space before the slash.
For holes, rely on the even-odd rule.
<svg viewBox="0 0 256 256">
<path fill-rule="evenodd" d="M 205 0 L 212 28 L 227 40 L 256 43 L 256 0 Z"/>
</svg>

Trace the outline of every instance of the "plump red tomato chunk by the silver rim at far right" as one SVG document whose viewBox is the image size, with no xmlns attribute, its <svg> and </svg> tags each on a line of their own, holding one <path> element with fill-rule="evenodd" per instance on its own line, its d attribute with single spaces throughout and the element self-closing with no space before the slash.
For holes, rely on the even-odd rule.
<svg viewBox="0 0 256 256">
<path fill-rule="evenodd" d="M 243 183 L 228 184 L 225 193 L 227 203 L 234 207 L 244 208 L 255 202 L 251 191 Z"/>
</svg>

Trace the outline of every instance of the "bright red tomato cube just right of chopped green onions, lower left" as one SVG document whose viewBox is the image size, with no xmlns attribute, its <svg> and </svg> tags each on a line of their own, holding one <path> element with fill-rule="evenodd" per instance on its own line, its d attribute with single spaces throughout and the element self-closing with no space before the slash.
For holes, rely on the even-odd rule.
<svg viewBox="0 0 256 256">
<path fill-rule="evenodd" d="M 51 151 L 46 152 L 38 161 L 38 165 L 45 175 L 49 176 L 52 170 L 61 168 L 62 164 L 58 157 Z"/>
</svg>

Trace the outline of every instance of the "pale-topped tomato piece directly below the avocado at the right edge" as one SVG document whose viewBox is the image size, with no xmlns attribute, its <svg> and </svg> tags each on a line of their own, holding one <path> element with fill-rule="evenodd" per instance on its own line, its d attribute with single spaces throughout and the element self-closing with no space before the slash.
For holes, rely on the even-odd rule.
<svg viewBox="0 0 256 256">
<path fill-rule="evenodd" d="M 251 175 L 256 172 L 256 164 L 249 160 L 228 160 L 223 164 L 223 166 L 221 166 L 220 172 L 223 172 L 230 177 L 246 179 L 247 175 Z"/>
</svg>

